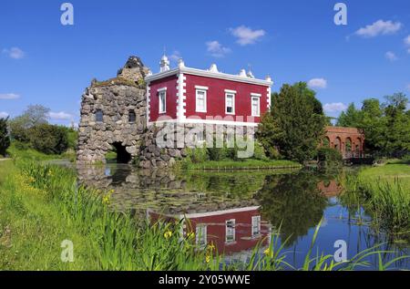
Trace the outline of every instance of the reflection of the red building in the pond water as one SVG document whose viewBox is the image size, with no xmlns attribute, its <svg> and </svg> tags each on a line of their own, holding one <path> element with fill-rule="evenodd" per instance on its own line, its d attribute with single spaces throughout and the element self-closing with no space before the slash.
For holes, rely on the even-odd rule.
<svg viewBox="0 0 410 289">
<path fill-rule="evenodd" d="M 259 206 L 181 215 L 148 211 L 148 216 L 153 222 L 159 219 L 184 220 L 183 235 L 195 232 L 198 245 L 204 247 L 213 243 L 219 253 L 250 252 L 262 240 L 262 246 L 270 243 L 271 224 L 261 220 Z"/>
</svg>

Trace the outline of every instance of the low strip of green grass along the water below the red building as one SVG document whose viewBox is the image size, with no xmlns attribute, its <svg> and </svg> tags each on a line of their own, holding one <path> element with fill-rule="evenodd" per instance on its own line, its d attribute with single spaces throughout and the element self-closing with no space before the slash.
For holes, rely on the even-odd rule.
<svg viewBox="0 0 410 289">
<path fill-rule="evenodd" d="M 258 170 L 302 168 L 292 160 L 207 160 L 200 163 L 189 163 L 188 170 Z"/>
</svg>

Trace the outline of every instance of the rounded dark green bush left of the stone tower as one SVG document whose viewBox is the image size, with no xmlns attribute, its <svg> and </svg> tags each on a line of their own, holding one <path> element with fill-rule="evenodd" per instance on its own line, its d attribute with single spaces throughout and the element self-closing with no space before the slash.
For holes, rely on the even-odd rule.
<svg viewBox="0 0 410 289">
<path fill-rule="evenodd" d="M 61 154 L 68 148 L 66 128 L 44 123 L 28 130 L 30 142 L 35 150 L 46 154 Z"/>
</svg>

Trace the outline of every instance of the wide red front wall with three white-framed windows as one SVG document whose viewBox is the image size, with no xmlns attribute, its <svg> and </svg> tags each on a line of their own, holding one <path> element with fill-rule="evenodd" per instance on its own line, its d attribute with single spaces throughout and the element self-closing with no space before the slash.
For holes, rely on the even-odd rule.
<svg viewBox="0 0 410 289">
<path fill-rule="evenodd" d="M 235 95 L 235 115 L 243 117 L 243 120 L 247 121 L 247 117 L 251 117 L 251 93 L 261 94 L 261 115 L 267 109 L 267 88 L 261 85 L 248 84 L 243 82 L 236 82 L 231 80 L 224 80 L 211 77 L 200 77 L 193 75 L 185 75 L 186 80 L 186 117 L 198 116 L 200 119 L 206 119 L 207 116 L 220 116 L 225 118 L 226 116 L 232 117 L 232 115 L 225 114 L 225 89 L 236 90 Z M 196 88 L 195 86 L 208 87 L 207 92 L 207 112 L 196 112 Z M 254 118 L 253 122 L 259 122 L 260 118 Z M 252 122 L 252 121 L 251 121 Z"/>
</svg>

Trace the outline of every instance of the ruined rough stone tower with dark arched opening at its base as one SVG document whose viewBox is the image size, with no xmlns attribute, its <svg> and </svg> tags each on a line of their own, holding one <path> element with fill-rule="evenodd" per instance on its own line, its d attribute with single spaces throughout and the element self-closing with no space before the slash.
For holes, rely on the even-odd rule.
<svg viewBox="0 0 410 289">
<path fill-rule="evenodd" d="M 105 162 L 113 147 L 122 162 L 138 156 L 147 129 L 147 73 L 139 57 L 129 57 L 117 77 L 92 81 L 81 101 L 77 163 Z"/>
</svg>

